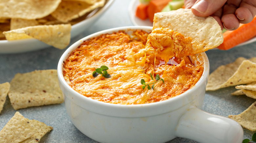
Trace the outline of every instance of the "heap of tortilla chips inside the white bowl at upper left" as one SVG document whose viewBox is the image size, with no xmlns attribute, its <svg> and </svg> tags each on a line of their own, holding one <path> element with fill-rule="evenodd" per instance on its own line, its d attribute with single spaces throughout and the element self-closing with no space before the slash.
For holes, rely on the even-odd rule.
<svg viewBox="0 0 256 143">
<path fill-rule="evenodd" d="M 71 25 L 86 18 L 105 0 L 1 0 L 0 40 L 34 38 L 64 49 Z"/>
</svg>

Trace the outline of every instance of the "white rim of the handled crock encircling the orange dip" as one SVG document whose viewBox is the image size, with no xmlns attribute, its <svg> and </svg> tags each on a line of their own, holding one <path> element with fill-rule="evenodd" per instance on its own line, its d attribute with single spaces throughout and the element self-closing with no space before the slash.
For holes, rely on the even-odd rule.
<svg viewBox="0 0 256 143">
<path fill-rule="evenodd" d="M 127 115 L 125 113 L 122 114 L 122 112 L 128 111 L 131 114 L 133 114 L 133 115 L 129 115 L 128 117 L 137 117 L 137 116 L 141 116 L 141 115 L 139 115 L 139 114 L 141 114 L 139 112 L 143 113 L 145 109 L 148 110 L 147 115 L 152 116 L 152 115 L 156 115 L 156 112 L 157 112 L 157 114 L 169 112 L 170 108 L 172 108 L 173 106 L 175 106 L 175 108 L 172 110 L 175 110 L 181 106 L 186 105 L 187 103 L 184 104 L 184 98 L 189 98 L 188 99 L 189 101 L 193 101 L 193 99 L 191 99 L 191 97 L 187 97 L 188 96 L 187 93 L 196 92 L 195 90 L 197 90 L 198 88 L 202 88 L 202 86 L 203 86 L 203 88 L 205 88 L 205 85 L 206 85 L 205 82 L 207 82 L 208 75 L 209 75 L 209 61 L 208 61 L 208 57 L 206 56 L 205 52 L 201 53 L 202 57 L 203 57 L 203 62 L 204 62 L 204 66 L 203 66 L 204 71 L 203 71 L 202 77 L 195 84 L 195 86 L 188 89 L 184 93 L 181 93 L 178 96 L 175 96 L 171 99 L 160 101 L 160 102 L 146 103 L 146 104 L 129 104 L 129 105 L 105 103 L 105 102 L 101 102 L 101 101 L 97 101 L 97 100 L 88 98 L 88 97 L 76 92 L 72 87 L 70 87 L 67 84 L 67 82 L 65 81 L 65 79 L 63 77 L 63 72 L 62 72 L 63 61 L 65 61 L 66 58 L 70 55 L 70 53 L 72 51 L 74 51 L 84 40 L 87 40 L 87 39 L 90 39 L 90 38 L 93 38 L 93 37 L 96 37 L 98 35 L 105 34 L 105 33 L 112 33 L 112 32 L 119 31 L 119 30 L 135 30 L 135 29 L 152 31 L 151 26 L 124 26 L 124 27 L 111 28 L 111 29 L 96 32 L 94 34 L 91 34 L 89 36 L 86 36 L 86 37 L 76 41 L 63 53 L 63 55 L 60 57 L 60 60 L 58 62 L 57 73 L 58 73 L 59 84 L 65 88 L 65 91 L 69 92 L 69 95 L 72 95 L 74 97 L 74 98 L 72 97 L 72 99 L 70 99 L 70 100 L 76 101 L 76 102 L 82 102 L 82 103 L 77 103 L 78 106 L 80 106 L 82 108 L 85 108 L 84 106 L 92 106 L 92 107 L 98 106 L 99 108 L 93 108 L 93 109 L 87 109 L 87 110 L 96 112 L 98 114 L 105 114 L 108 116 L 123 117 L 123 116 L 127 116 Z M 63 89 L 62 89 L 62 91 L 63 91 Z M 165 109 L 164 107 L 168 107 L 169 109 Z M 105 111 L 102 111 L 102 109 L 104 109 L 104 110 L 106 109 L 106 110 L 108 110 L 108 112 L 105 113 Z M 115 112 L 117 112 L 117 110 L 121 111 L 119 115 L 117 115 L 115 113 Z M 138 114 L 134 113 L 134 112 L 138 112 Z"/>
</svg>

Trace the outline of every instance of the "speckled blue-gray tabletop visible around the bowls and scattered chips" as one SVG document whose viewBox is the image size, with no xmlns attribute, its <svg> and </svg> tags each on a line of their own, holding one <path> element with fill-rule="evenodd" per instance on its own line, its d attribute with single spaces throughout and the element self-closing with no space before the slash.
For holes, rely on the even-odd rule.
<svg viewBox="0 0 256 143">
<path fill-rule="evenodd" d="M 120 26 L 133 25 L 129 19 L 129 0 L 116 0 L 113 5 L 89 29 L 71 40 L 75 41 L 92 33 Z M 3 48 L 3 47 L 0 47 Z M 5 47 L 8 48 L 8 47 Z M 10 82 L 17 72 L 29 72 L 43 69 L 56 69 L 57 63 L 64 50 L 53 47 L 39 51 L 20 54 L 0 54 L 0 83 Z M 256 42 L 228 51 L 210 50 L 206 54 L 210 62 L 210 73 L 218 66 L 235 61 L 239 56 L 250 58 L 256 56 Z M 203 110 L 209 113 L 227 117 L 237 115 L 248 108 L 255 99 L 246 96 L 231 96 L 235 87 L 227 87 L 217 91 L 206 92 Z M 45 143 L 97 143 L 83 135 L 72 124 L 65 110 L 64 104 L 31 107 L 18 110 L 28 119 L 36 119 L 53 126 L 53 130 L 46 134 L 40 142 Z M 10 99 L 4 104 L 0 114 L 0 129 L 11 119 L 16 111 L 10 104 Z M 210 130 L 210 129 L 209 129 Z M 244 129 L 244 138 L 250 138 L 254 132 Z M 167 143 L 196 143 L 195 141 L 175 138 Z"/>
</svg>

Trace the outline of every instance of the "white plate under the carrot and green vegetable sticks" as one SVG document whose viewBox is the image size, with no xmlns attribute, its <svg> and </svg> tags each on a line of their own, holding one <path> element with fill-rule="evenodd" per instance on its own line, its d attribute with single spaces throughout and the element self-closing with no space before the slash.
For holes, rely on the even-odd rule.
<svg viewBox="0 0 256 143">
<path fill-rule="evenodd" d="M 138 17 L 135 16 L 135 12 L 136 12 L 136 8 L 137 6 L 139 5 L 139 0 L 132 0 L 130 2 L 130 5 L 129 5 L 129 16 L 130 16 L 130 19 L 132 21 L 132 23 L 134 25 L 138 25 L 138 26 L 153 26 L 153 23 L 149 21 L 149 19 L 146 19 L 146 20 L 141 20 L 139 19 Z M 236 45 L 237 46 L 243 46 L 243 45 L 246 45 L 246 44 L 249 44 L 249 43 L 252 43 L 252 42 L 255 42 L 256 41 L 256 37 L 250 39 L 250 40 L 247 40 L 239 45 Z M 216 48 L 214 48 L 216 49 Z"/>
</svg>

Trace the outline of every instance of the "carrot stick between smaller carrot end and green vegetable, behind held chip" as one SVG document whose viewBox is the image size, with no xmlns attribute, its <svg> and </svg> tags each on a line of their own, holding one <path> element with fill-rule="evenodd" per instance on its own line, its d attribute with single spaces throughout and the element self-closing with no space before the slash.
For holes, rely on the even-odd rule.
<svg viewBox="0 0 256 143">
<path fill-rule="evenodd" d="M 157 12 L 161 12 L 161 10 L 172 0 L 151 0 L 148 4 L 147 13 L 148 18 L 151 22 L 153 22 L 154 15 Z"/>
</svg>

